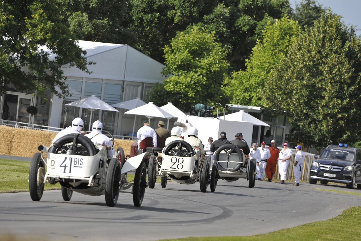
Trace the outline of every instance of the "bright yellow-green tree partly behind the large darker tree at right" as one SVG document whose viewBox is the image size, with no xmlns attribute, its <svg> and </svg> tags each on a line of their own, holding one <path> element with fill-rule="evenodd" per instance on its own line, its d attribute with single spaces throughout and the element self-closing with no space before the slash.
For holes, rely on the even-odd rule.
<svg viewBox="0 0 361 241">
<path fill-rule="evenodd" d="M 246 70 L 234 72 L 227 79 L 225 90 L 232 104 L 249 106 L 262 105 L 262 92 L 273 83 L 271 70 L 276 68 L 286 56 L 292 43 L 301 34 L 297 22 L 283 17 L 275 20 L 263 31 L 262 40 L 258 40 L 252 54 L 246 60 Z"/>
</svg>

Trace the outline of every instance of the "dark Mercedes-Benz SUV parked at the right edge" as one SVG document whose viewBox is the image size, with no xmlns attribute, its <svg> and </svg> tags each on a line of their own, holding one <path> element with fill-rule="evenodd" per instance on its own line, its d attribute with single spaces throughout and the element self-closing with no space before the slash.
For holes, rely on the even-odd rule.
<svg viewBox="0 0 361 241">
<path fill-rule="evenodd" d="M 319 180 L 321 184 L 344 183 L 347 188 L 357 184 L 361 189 L 361 149 L 342 143 L 330 145 L 315 159 L 310 168 L 310 184 Z"/>
</svg>

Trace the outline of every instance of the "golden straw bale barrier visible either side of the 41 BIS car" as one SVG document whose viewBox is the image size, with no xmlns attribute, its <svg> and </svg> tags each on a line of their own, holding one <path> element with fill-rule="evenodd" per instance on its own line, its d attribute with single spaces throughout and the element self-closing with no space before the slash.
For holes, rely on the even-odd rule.
<svg viewBox="0 0 361 241">
<path fill-rule="evenodd" d="M 3 148 L 1 155 L 32 157 L 38 151 L 38 146 L 50 146 L 56 132 L 47 130 L 31 130 L 14 128 L 6 125 L 0 126 L 0 141 Z M 115 139 L 114 148 L 124 149 L 125 155 L 130 155 L 130 147 L 134 141 Z"/>
</svg>

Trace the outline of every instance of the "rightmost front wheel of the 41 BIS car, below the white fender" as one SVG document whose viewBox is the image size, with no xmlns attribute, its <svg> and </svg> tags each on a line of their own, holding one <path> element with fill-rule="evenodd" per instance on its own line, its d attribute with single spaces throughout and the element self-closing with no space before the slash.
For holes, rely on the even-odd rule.
<svg viewBox="0 0 361 241">
<path fill-rule="evenodd" d="M 133 203 L 134 206 L 140 207 L 143 202 L 145 189 L 147 188 L 147 169 L 144 162 L 140 163 L 135 171 L 133 186 Z"/>
</svg>

